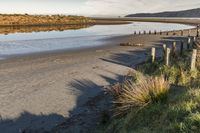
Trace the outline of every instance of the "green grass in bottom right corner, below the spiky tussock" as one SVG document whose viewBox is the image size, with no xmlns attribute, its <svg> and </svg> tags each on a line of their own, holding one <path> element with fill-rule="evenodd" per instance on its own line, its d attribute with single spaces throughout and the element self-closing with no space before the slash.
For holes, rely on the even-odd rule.
<svg viewBox="0 0 200 133">
<path fill-rule="evenodd" d="M 103 133 L 199 133 L 200 88 L 172 88 L 167 103 L 130 110 L 103 127 Z"/>
</svg>

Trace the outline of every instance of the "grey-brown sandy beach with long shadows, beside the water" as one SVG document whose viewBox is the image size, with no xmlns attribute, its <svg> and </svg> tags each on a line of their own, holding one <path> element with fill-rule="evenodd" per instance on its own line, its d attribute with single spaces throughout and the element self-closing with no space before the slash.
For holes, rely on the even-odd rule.
<svg viewBox="0 0 200 133">
<path fill-rule="evenodd" d="M 0 131 L 49 131 L 145 61 L 148 48 L 162 47 L 177 38 L 170 36 L 121 36 L 101 47 L 0 61 Z M 144 47 L 119 46 L 123 42 Z"/>
</svg>

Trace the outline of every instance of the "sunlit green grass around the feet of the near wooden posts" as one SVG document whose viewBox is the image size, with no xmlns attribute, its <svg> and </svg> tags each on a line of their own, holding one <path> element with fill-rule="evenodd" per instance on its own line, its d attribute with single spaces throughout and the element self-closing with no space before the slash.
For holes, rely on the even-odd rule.
<svg viewBox="0 0 200 133">
<path fill-rule="evenodd" d="M 190 86 L 191 81 L 198 77 L 198 70 L 190 71 L 190 63 L 186 59 L 172 60 L 171 66 L 165 66 L 162 61 L 146 63 L 139 66 L 138 71 L 145 75 L 164 75 L 170 84 Z"/>
</svg>

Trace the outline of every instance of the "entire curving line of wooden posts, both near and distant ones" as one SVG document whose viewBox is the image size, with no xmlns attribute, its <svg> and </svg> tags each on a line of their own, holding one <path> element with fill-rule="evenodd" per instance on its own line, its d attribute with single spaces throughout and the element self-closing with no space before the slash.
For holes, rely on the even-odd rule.
<svg viewBox="0 0 200 133">
<path fill-rule="evenodd" d="M 187 50 L 191 50 L 195 42 L 197 40 L 197 37 L 199 37 L 199 25 L 196 28 L 196 36 L 191 36 L 191 29 L 188 30 L 177 30 L 177 31 L 165 31 L 165 32 L 157 32 L 156 30 L 151 31 L 143 31 L 143 34 L 149 34 L 149 35 L 177 35 L 177 36 L 185 36 L 187 37 L 187 42 L 184 42 L 183 40 L 180 41 L 180 49 L 179 49 L 179 54 L 177 53 L 177 45 L 176 42 L 173 42 L 172 47 L 168 48 L 166 44 L 163 44 L 163 60 L 165 62 L 166 66 L 170 66 L 170 58 L 175 57 L 177 55 L 182 56 L 184 53 L 184 44 L 186 44 Z M 138 32 L 139 35 L 142 35 L 142 32 Z M 138 35 L 136 31 L 134 31 L 134 35 Z M 192 50 L 191 58 L 190 58 L 190 69 L 191 71 L 194 71 L 196 69 L 196 61 L 197 60 L 197 49 Z M 151 49 L 151 62 L 154 63 L 156 61 L 156 48 Z"/>
</svg>

